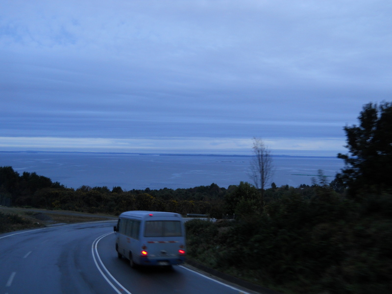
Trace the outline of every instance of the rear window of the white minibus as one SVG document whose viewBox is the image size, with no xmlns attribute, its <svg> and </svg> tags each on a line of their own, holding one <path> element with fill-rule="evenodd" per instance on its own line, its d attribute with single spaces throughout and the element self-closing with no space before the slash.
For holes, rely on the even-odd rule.
<svg viewBox="0 0 392 294">
<path fill-rule="evenodd" d="M 180 237 L 181 221 L 146 221 L 145 237 Z"/>
</svg>

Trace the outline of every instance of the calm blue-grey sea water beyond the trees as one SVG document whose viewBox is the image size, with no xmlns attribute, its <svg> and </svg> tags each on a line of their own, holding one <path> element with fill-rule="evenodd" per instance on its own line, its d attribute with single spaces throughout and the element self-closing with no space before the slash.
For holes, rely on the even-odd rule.
<svg viewBox="0 0 392 294">
<path fill-rule="evenodd" d="M 0 152 L 0 166 L 36 172 L 68 188 L 120 186 L 123 190 L 193 188 L 212 183 L 227 188 L 249 178 L 250 157 L 121 153 Z M 318 170 L 332 181 L 343 168 L 334 157 L 273 157 L 271 182 L 278 187 L 312 184 Z"/>
</svg>

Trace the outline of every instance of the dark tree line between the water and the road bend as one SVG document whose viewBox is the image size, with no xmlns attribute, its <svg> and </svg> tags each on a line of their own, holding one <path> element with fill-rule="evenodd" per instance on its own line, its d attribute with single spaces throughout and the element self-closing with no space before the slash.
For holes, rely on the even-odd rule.
<svg viewBox="0 0 392 294">
<path fill-rule="evenodd" d="M 272 184 L 265 189 L 263 205 L 292 194 L 305 198 L 316 196 L 315 187 L 288 185 L 280 188 Z M 241 182 L 239 185 L 221 188 L 216 184 L 189 189 L 159 189 L 123 191 L 121 187 L 67 188 L 48 177 L 35 172 L 20 175 L 12 167 L 0 167 L 0 205 L 27 206 L 45 209 L 73 210 L 89 213 L 118 215 L 127 210 L 171 211 L 206 214 L 221 219 L 261 211 L 260 191 L 255 186 Z"/>
</svg>

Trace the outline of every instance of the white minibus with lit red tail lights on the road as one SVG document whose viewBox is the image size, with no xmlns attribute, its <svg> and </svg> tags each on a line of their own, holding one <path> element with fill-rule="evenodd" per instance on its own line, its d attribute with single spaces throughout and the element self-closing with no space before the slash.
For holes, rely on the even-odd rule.
<svg viewBox="0 0 392 294">
<path fill-rule="evenodd" d="M 159 211 L 127 211 L 119 216 L 116 251 L 131 267 L 172 266 L 185 260 L 185 227 L 181 215 Z"/>
</svg>

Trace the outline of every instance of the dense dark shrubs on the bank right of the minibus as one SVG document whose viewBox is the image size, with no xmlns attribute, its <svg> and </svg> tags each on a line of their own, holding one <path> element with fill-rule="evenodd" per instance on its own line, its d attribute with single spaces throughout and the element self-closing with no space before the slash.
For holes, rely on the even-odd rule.
<svg viewBox="0 0 392 294">
<path fill-rule="evenodd" d="M 189 221 L 190 258 L 284 293 L 392 293 L 392 195 L 357 203 L 314 188 L 252 218 Z"/>
</svg>

